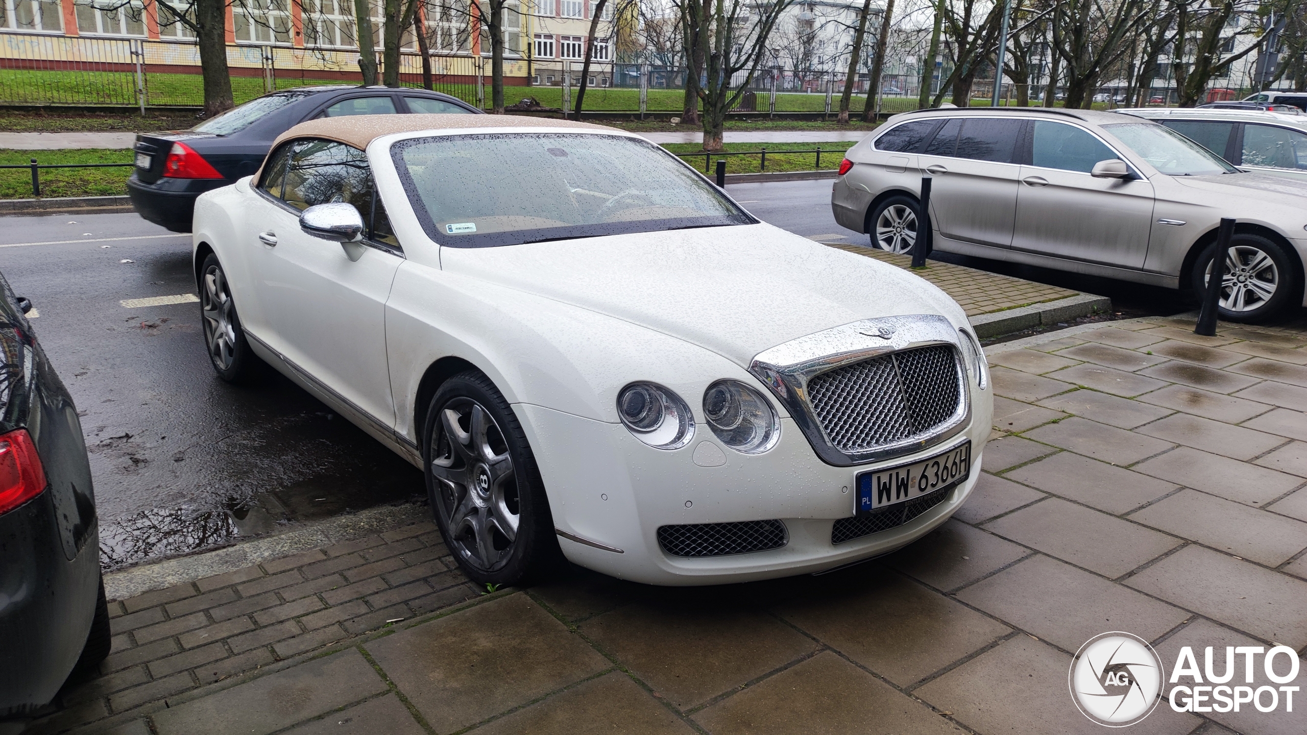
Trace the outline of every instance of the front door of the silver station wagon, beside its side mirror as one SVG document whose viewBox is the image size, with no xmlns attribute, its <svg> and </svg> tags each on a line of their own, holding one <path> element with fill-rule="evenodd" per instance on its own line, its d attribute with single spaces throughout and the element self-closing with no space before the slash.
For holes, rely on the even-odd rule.
<svg viewBox="0 0 1307 735">
<path fill-rule="evenodd" d="M 1091 177 L 1094 163 L 1121 156 L 1078 126 L 1034 120 L 1029 141 L 1013 250 L 1142 268 L 1153 222 L 1153 184 L 1142 178 Z"/>
</svg>

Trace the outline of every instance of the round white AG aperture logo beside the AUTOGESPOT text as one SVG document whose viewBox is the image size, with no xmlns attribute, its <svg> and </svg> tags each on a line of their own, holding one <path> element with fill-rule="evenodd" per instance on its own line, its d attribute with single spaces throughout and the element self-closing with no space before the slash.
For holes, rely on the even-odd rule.
<svg viewBox="0 0 1307 735">
<path fill-rule="evenodd" d="M 1085 717 L 1125 727 L 1148 717 L 1161 700 L 1162 659 L 1129 633 L 1103 633 L 1080 647 L 1070 662 L 1070 697 Z"/>
</svg>

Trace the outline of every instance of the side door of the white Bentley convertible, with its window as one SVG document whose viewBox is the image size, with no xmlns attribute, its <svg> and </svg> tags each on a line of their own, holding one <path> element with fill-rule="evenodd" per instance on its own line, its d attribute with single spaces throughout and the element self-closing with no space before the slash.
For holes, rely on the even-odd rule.
<svg viewBox="0 0 1307 735">
<path fill-rule="evenodd" d="M 356 205 L 369 225 L 357 260 L 299 229 L 303 209 L 329 201 Z M 267 336 L 256 336 L 311 382 L 393 428 L 384 307 L 404 258 L 366 154 L 331 140 L 293 141 L 281 197 L 260 226 L 254 272 Z"/>
</svg>

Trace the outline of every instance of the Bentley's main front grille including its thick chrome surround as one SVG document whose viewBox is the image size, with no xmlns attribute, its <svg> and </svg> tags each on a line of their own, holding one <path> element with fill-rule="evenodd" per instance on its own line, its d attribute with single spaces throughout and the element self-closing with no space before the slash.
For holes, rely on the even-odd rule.
<svg viewBox="0 0 1307 735">
<path fill-rule="evenodd" d="M 763 350 L 749 371 L 823 462 L 850 467 L 912 454 L 966 428 L 971 395 L 958 339 L 937 314 L 864 319 Z M 903 369 L 928 379 L 903 381 Z M 932 392 L 942 395 L 932 402 Z"/>
</svg>

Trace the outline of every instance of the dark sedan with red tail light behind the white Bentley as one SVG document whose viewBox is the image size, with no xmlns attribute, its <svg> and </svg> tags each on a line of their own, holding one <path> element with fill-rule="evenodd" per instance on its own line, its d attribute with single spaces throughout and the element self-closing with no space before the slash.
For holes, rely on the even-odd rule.
<svg viewBox="0 0 1307 735">
<path fill-rule="evenodd" d="M 302 86 L 264 94 L 188 131 L 136 136 L 127 194 L 136 212 L 175 233 L 191 231 L 195 197 L 259 170 L 272 141 L 314 118 L 392 112 L 469 112 L 472 105 L 425 89 Z"/>
</svg>

